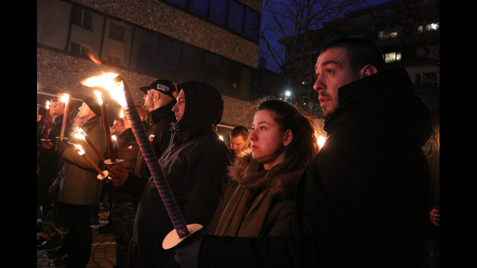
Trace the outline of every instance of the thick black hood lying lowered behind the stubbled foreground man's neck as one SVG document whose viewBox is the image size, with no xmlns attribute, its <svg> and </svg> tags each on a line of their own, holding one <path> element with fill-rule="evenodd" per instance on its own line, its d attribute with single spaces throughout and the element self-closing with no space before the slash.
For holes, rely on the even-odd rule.
<svg viewBox="0 0 477 268">
<path fill-rule="evenodd" d="M 369 124 L 369 131 L 385 129 L 403 143 L 422 146 L 431 136 L 430 112 L 413 95 L 412 82 L 404 68 L 351 82 L 338 89 L 338 100 L 338 107 L 325 121 L 328 133 L 342 120 L 359 117 Z"/>
</svg>

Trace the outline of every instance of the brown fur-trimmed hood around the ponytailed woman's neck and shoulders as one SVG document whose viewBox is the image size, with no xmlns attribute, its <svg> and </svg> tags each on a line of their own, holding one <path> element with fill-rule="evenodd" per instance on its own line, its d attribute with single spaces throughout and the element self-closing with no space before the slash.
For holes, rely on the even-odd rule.
<svg viewBox="0 0 477 268">
<path fill-rule="evenodd" d="M 270 170 L 264 170 L 263 164 L 252 158 L 252 150 L 242 151 L 229 169 L 229 178 L 237 181 L 249 191 L 257 193 L 266 188 L 279 195 L 280 199 L 294 196 L 294 187 L 305 169 L 296 170 L 296 160 L 293 156 L 275 165 Z"/>
</svg>

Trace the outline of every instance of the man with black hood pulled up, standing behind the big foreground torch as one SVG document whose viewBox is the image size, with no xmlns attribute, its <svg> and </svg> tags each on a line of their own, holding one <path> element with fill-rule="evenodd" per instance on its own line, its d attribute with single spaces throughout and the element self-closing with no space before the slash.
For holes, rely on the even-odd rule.
<svg viewBox="0 0 477 268">
<path fill-rule="evenodd" d="M 223 113 L 223 100 L 214 87 L 201 82 L 183 82 L 172 108 L 171 143 L 159 159 L 165 178 L 187 224 L 209 223 L 223 186 L 230 153 L 215 133 Z M 115 186 L 140 195 L 130 246 L 128 267 L 177 267 L 174 250 L 164 250 L 162 241 L 174 229 L 152 177 L 144 179 L 124 169 L 111 170 Z M 124 184 L 123 184 L 124 183 Z"/>
</svg>

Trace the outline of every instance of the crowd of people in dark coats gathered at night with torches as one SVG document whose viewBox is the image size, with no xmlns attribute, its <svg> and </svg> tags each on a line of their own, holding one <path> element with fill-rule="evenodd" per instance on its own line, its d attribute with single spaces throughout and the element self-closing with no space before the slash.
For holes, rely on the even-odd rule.
<svg viewBox="0 0 477 268">
<path fill-rule="evenodd" d="M 101 160 L 109 158 L 108 122 L 96 98 L 67 119 L 65 137 L 58 132 L 65 104 L 52 100 L 51 123 L 37 105 L 37 207 L 67 230 L 55 245 L 38 238 L 38 247 L 60 244 L 48 250 L 57 265 L 86 267 L 92 208 L 107 193 L 117 268 L 428 264 L 428 225 L 438 227 L 440 216 L 439 207 L 429 210 L 421 148 L 432 124 L 409 76 L 385 70 L 379 49 L 360 38 L 331 42 L 314 69 L 327 132 L 322 148 L 311 117 L 284 101 L 261 103 L 251 130 L 235 127 L 227 147 L 216 134 L 226 108 L 218 89 L 168 80 L 139 88 L 138 113 L 183 218 L 203 226 L 172 249 L 162 243 L 174 226 L 128 117 L 111 126 L 121 161 L 108 165 Z M 70 135 L 77 126 L 96 148 Z M 99 180 L 74 144 L 109 178 Z"/>
</svg>

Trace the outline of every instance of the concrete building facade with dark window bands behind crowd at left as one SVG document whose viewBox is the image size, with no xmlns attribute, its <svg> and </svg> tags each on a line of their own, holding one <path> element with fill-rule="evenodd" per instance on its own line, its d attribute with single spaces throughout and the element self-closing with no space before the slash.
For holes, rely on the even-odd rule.
<svg viewBox="0 0 477 268">
<path fill-rule="evenodd" d="M 37 0 L 37 103 L 62 93 L 82 100 L 92 89 L 80 81 L 115 72 L 137 104 L 135 89 L 157 79 L 209 83 L 224 96 L 222 126 L 251 125 L 261 4 Z"/>
</svg>

